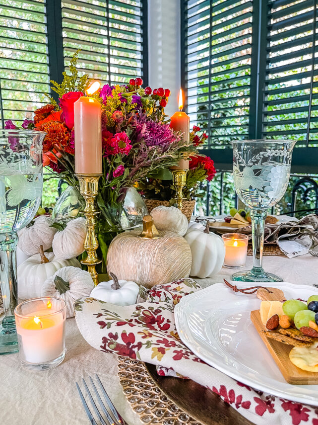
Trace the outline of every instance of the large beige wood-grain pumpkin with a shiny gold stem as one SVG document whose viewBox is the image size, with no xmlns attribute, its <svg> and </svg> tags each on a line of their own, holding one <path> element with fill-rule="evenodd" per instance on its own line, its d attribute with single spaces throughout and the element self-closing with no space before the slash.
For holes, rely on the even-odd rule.
<svg viewBox="0 0 318 425">
<path fill-rule="evenodd" d="M 191 250 L 180 235 L 158 231 L 151 215 L 142 219 L 143 230 L 117 235 L 107 253 L 107 270 L 122 280 L 151 288 L 189 277 Z"/>
</svg>

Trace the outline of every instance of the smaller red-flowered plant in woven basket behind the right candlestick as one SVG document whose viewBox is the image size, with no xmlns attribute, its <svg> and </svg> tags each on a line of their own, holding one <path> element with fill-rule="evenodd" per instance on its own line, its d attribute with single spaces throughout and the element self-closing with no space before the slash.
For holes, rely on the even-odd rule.
<svg viewBox="0 0 318 425">
<path fill-rule="evenodd" d="M 200 133 L 200 135 L 199 135 Z M 207 139 L 207 134 L 201 132 L 200 127 L 193 126 L 190 132 L 190 142 L 194 148 L 202 145 Z M 214 162 L 211 158 L 199 154 L 190 157 L 189 171 L 187 172 L 186 185 L 183 189 L 184 196 L 191 200 L 194 197 L 202 196 L 198 189 L 203 181 L 211 181 L 216 173 Z M 171 172 L 160 171 L 155 177 L 146 177 L 139 182 L 139 189 L 142 195 L 148 199 L 158 199 L 162 201 L 171 201 L 174 203 L 176 194 L 172 183 Z"/>
</svg>

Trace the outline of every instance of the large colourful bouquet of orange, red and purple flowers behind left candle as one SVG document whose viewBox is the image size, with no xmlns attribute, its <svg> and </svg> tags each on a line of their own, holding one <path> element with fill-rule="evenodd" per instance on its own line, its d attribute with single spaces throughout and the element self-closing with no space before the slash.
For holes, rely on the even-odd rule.
<svg viewBox="0 0 318 425">
<path fill-rule="evenodd" d="M 70 61 L 69 73 L 63 73 L 63 82 L 51 81 L 59 103 L 48 95 L 50 102 L 34 112 L 33 120 L 26 119 L 22 124 L 24 129 L 47 133 L 43 164 L 72 186 L 78 186 L 74 175 L 74 102 L 85 95 L 91 83 L 86 74 L 78 75 L 77 55 L 78 51 Z M 121 230 L 127 188 L 158 170 L 177 165 L 196 151 L 192 143 L 169 126 L 164 107 L 170 90 L 162 87 L 152 90 L 143 88 L 142 84 L 141 78 L 124 85 L 106 84 L 90 95 L 102 108 L 103 175 L 97 195 L 101 210 L 97 237 L 104 258 L 108 243 L 103 234 Z M 17 127 L 8 120 L 5 128 Z"/>
</svg>

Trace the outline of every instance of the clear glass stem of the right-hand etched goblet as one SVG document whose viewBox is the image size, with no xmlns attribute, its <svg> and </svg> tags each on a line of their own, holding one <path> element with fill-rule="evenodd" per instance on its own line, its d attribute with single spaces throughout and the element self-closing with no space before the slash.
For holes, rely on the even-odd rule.
<svg viewBox="0 0 318 425">
<path fill-rule="evenodd" d="M 251 272 L 255 275 L 264 274 L 262 267 L 263 247 L 264 247 L 264 229 L 266 211 L 253 210 L 250 211 L 252 221 L 252 245 L 253 245 L 253 268 Z"/>
</svg>

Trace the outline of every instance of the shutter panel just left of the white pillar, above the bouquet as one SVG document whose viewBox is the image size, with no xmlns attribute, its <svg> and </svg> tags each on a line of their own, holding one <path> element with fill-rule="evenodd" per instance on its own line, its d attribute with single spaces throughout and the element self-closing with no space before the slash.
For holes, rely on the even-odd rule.
<svg viewBox="0 0 318 425">
<path fill-rule="evenodd" d="M 134 0 L 62 1 L 65 67 L 79 53 L 79 69 L 104 83 L 142 77 L 142 4 Z"/>
</svg>

